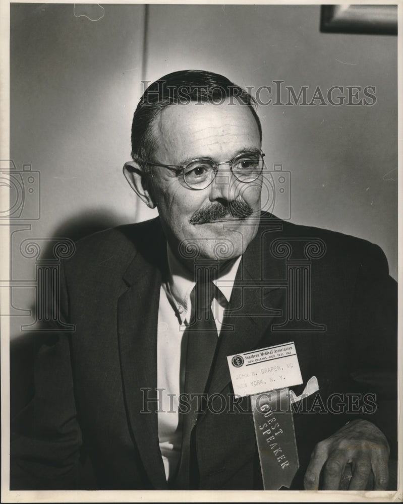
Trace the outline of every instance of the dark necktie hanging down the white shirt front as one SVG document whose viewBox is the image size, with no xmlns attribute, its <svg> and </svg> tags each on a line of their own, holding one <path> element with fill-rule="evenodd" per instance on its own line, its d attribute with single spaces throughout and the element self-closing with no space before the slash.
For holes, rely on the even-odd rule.
<svg viewBox="0 0 403 504">
<path fill-rule="evenodd" d="M 211 303 L 215 285 L 211 281 L 211 272 L 206 268 L 198 271 L 196 285 L 191 293 L 192 316 L 186 330 L 188 340 L 185 368 L 185 394 L 203 394 L 217 347 L 218 333 Z M 195 464 L 193 427 L 198 418 L 197 398 L 190 401 L 191 410 L 183 413 L 182 455 L 175 486 L 186 490 L 196 484 L 197 465 Z"/>
</svg>

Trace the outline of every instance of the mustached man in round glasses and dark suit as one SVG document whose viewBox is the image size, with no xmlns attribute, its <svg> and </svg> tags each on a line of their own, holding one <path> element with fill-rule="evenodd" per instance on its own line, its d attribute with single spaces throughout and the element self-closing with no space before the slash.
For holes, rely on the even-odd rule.
<svg viewBox="0 0 403 504">
<path fill-rule="evenodd" d="M 225 77 L 182 71 L 146 90 L 124 173 L 159 217 L 65 261 L 61 319 L 76 329 L 38 355 L 12 488 L 88 487 L 85 457 L 99 489 L 263 488 L 257 413 L 234 398 L 227 357 L 290 342 L 291 389 L 319 388 L 293 410 L 291 488 L 386 488 L 395 284 L 376 245 L 261 213 L 261 140 L 252 97 Z"/>
</svg>

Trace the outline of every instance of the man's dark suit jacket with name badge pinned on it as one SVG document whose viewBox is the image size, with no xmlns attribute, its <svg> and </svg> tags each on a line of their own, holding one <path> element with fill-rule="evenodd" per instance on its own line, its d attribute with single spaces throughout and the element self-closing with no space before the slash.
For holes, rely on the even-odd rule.
<svg viewBox="0 0 403 504">
<path fill-rule="evenodd" d="M 310 239 L 324 244 L 324 250 L 307 251 Z M 291 243 L 291 254 L 281 248 L 284 240 Z M 298 265 L 309 271 L 310 313 L 294 312 L 294 322 L 281 328 L 290 319 L 292 302 L 285 285 Z M 13 423 L 12 489 L 89 488 L 81 481 L 86 457 L 96 488 L 167 488 L 156 413 L 140 413 L 140 389 L 151 389 L 151 395 L 157 385 L 157 315 L 165 268 L 158 219 L 77 243 L 75 255 L 63 265 L 60 293 L 62 317 L 76 330 L 56 334 L 39 352 L 35 396 Z M 304 384 L 315 375 L 320 398 L 303 399 L 294 413 L 300 470 L 293 488 L 303 488 L 315 444 L 353 418 L 373 421 L 396 450 L 395 287 L 378 246 L 262 214 L 237 274 L 224 320 L 233 330 L 220 335 L 209 392 L 233 393 L 227 355 L 295 342 Z M 298 395 L 303 388 L 294 390 Z M 376 395 L 376 413 L 365 414 L 357 402 L 352 407 L 352 396 L 336 400 L 350 401 L 352 414 L 326 413 L 320 404 L 326 409 L 333 393 L 367 392 Z M 246 409 L 249 399 L 241 405 Z M 200 489 L 262 488 L 250 413 L 206 411 L 195 443 Z"/>
</svg>

